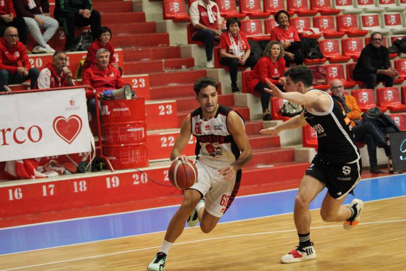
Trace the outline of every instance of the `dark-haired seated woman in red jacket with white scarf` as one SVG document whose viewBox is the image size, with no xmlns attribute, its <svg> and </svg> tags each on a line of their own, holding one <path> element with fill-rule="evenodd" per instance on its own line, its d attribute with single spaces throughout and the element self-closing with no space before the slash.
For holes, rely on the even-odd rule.
<svg viewBox="0 0 406 271">
<path fill-rule="evenodd" d="M 240 92 L 237 87 L 237 72 L 239 66 L 249 66 L 254 69 L 257 60 L 250 55 L 251 48 L 247 37 L 240 31 L 241 22 L 238 18 L 228 18 L 227 31 L 220 37 L 220 64 L 230 67 L 232 92 Z"/>
</svg>

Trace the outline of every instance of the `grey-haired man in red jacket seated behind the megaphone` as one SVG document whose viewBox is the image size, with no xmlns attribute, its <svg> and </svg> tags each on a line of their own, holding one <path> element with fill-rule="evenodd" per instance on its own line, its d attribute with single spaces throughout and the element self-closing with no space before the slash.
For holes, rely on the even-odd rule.
<svg viewBox="0 0 406 271">
<path fill-rule="evenodd" d="M 94 88 L 94 91 L 86 90 L 89 108 L 95 110 L 94 95 L 103 93 L 106 89 L 117 89 L 125 85 L 120 76 L 120 71 L 109 64 L 110 52 L 104 48 L 96 51 L 96 63 L 83 73 L 82 83 Z"/>
</svg>

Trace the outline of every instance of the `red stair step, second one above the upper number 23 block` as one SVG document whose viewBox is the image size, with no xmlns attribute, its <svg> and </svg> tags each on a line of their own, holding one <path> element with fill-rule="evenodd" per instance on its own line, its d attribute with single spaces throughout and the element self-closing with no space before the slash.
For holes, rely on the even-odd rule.
<svg viewBox="0 0 406 271">
<path fill-rule="evenodd" d="M 123 49 L 126 61 L 180 58 L 180 46 L 159 46 Z"/>
</svg>

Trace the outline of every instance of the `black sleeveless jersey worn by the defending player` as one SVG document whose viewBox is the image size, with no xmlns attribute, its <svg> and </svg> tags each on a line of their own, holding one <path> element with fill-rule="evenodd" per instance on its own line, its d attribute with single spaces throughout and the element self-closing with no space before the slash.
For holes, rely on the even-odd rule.
<svg viewBox="0 0 406 271">
<path fill-rule="evenodd" d="M 328 111 L 320 113 L 304 110 L 304 118 L 317 132 L 317 154 L 331 164 L 345 164 L 359 160 L 360 154 L 355 145 L 350 119 L 329 94 L 320 92 L 331 100 Z"/>
</svg>

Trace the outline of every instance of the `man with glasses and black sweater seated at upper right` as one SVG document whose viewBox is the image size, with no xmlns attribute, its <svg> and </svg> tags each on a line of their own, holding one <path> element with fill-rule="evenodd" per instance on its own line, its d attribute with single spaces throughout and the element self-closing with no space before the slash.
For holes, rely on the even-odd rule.
<svg viewBox="0 0 406 271">
<path fill-rule="evenodd" d="M 389 61 L 388 48 L 382 46 L 383 37 L 380 32 L 371 34 L 369 44 L 361 51 L 353 72 L 355 81 L 362 81 L 369 89 L 374 89 L 376 82 L 384 81 L 385 87 L 392 87 L 398 72 Z"/>
</svg>

